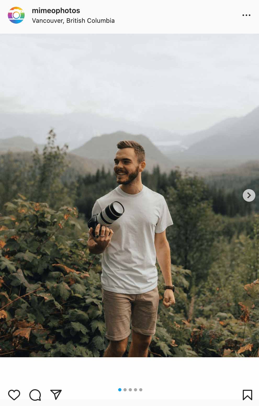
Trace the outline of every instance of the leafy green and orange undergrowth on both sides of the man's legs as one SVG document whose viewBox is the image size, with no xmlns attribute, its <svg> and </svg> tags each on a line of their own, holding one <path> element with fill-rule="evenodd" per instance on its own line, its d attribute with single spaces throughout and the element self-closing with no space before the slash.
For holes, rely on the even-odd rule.
<svg viewBox="0 0 259 406">
<path fill-rule="evenodd" d="M 77 210 L 15 199 L 0 217 L 0 354 L 102 356 L 107 347 L 101 266 L 86 246 Z M 171 266 L 176 304 L 163 307 L 158 266 L 156 335 L 150 356 L 257 356 L 259 218 L 253 239 L 216 250 L 208 279 L 189 287 L 191 271 Z M 220 251 L 221 250 L 221 251 Z M 245 285 L 245 286 L 244 286 Z M 127 353 L 125 354 L 127 356 Z"/>
</svg>

